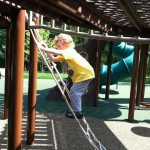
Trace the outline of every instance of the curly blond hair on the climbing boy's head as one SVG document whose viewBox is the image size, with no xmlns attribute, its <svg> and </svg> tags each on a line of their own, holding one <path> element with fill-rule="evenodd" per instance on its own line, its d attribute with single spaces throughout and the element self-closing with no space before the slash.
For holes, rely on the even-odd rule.
<svg viewBox="0 0 150 150">
<path fill-rule="evenodd" d="M 54 43 L 56 44 L 58 40 L 61 40 L 63 44 L 67 44 L 69 48 L 75 47 L 72 37 L 68 34 L 60 33 L 54 38 Z"/>
</svg>

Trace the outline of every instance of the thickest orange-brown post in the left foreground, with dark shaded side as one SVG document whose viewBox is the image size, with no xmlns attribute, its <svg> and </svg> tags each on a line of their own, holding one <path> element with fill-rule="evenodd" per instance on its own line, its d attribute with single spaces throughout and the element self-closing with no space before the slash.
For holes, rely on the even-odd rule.
<svg viewBox="0 0 150 150">
<path fill-rule="evenodd" d="M 12 9 L 11 14 L 11 81 L 8 102 L 8 150 L 20 150 L 22 132 L 25 10 Z"/>
</svg>

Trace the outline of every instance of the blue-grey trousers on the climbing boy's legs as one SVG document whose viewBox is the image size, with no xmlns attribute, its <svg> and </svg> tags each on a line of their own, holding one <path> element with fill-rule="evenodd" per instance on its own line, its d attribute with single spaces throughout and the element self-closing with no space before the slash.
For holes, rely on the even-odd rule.
<svg viewBox="0 0 150 150">
<path fill-rule="evenodd" d="M 81 97 L 84 94 L 87 86 L 89 85 L 90 80 L 86 80 L 83 82 L 74 83 L 70 89 L 70 100 L 71 100 L 71 107 L 73 111 L 80 112 L 82 111 L 81 106 Z"/>
</svg>

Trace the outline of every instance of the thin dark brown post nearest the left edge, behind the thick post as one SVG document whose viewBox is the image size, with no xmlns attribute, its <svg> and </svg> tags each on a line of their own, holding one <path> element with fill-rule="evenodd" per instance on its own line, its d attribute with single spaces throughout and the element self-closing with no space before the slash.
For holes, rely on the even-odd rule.
<svg viewBox="0 0 150 150">
<path fill-rule="evenodd" d="M 6 57 L 5 57 L 5 98 L 4 119 L 8 119 L 8 100 L 10 95 L 10 30 L 6 30 Z"/>
</svg>

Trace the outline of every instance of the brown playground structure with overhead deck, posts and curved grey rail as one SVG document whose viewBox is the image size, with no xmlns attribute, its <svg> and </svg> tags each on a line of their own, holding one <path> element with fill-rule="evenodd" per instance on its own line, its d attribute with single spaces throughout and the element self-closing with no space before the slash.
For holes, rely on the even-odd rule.
<svg viewBox="0 0 150 150">
<path fill-rule="evenodd" d="M 77 3 L 76 3 L 77 2 Z M 128 4 L 129 2 L 129 4 Z M 25 10 L 32 10 L 39 14 L 45 15 L 45 21 L 55 18 L 63 23 L 86 27 L 90 33 L 80 33 L 67 31 L 65 26 L 59 32 L 65 32 L 72 35 L 88 37 L 96 39 L 98 42 L 97 49 L 93 52 L 95 56 L 94 69 L 96 72 L 95 82 L 93 83 L 94 96 L 93 103 L 97 106 L 98 89 L 100 80 L 100 59 L 103 47 L 103 41 L 110 41 L 109 53 L 112 51 L 113 42 L 133 42 L 134 59 L 132 70 L 132 81 L 129 101 L 128 120 L 134 120 L 135 104 L 140 105 L 144 101 L 144 88 L 146 78 L 146 63 L 148 57 L 148 44 L 150 39 L 149 18 L 146 9 L 149 1 L 142 1 L 140 4 L 141 13 L 145 16 L 138 16 L 139 3 L 133 1 L 115 1 L 115 3 L 103 3 L 95 1 L 0 1 L 0 27 L 7 29 L 6 44 L 6 73 L 5 73 L 5 107 L 4 118 L 8 118 L 8 149 L 21 149 L 21 123 L 22 123 L 22 99 L 23 99 L 23 72 L 24 72 L 24 38 L 25 38 Z M 106 5 L 107 3 L 107 5 Z M 109 5 L 108 5 L 109 4 Z M 130 5 L 132 4 L 132 5 Z M 89 7 L 92 6 L 92 7 Z M 111 7 L 113 5 L 113 7 Z M 130 7 L 131 6 L 131 7 Z M 107 11 L 102 8 L 108 8 Z M 118 7 L 120 9 L 118 9 Z M 89 11 L 89 8 L 91 11 Z M 134 11 L 132 11 L 134 9 Z M 112 11 L 113 10 L 113 11 Z M 98 11 L 98 12 L 97 12 Z M 112 13 L 114 12 L 115 14 Z M 137 12 L 134 15 L 134 12 Z M 110 14 L 109 14 L 110 13 Z M 101 17 L 101 15 L 103 17 Z M 105 15 L 106 14 L 106 15 Z M 107 18 L 106 21 L 103 18 Z M 141 21 L 142 20 L 142 21 Z M 40 28 L 42 26 L 34 26 Z M 44 28 L 44 26 L 43 26 Z M 46 27 L 48 29 L 48 27 Z M 54 27 L 51 29 L 57 30 Z M 98 34 L 94 34 L 93 30 L 98 30 Z M 123 36 L 122 36 L 123 35 Z M 140 36 L 140 37 L 139 37 Z M 37 77 L 37 47 L 31 38 L 31 54 L 30 54 L 30 77 L 29 77 L 29 93 L 28 93 L 28 126 L 27 126 L 27 144 L 34 143 L 34 127 L 35 127 L 35 104 L 36 104 L 36 77 Z M 107 89 L 110 85 L 110 65 L 108 65 Z M 140 72 L 140 73 L 139 73 Z M 138 83 L 138 85 L 137 85 Z M 9 105 L 8 105 L 9 104 Z M 34 109 L 33 109 L 34 108 Z M 8 113 L 9 112 L 9 113 Z"/>
</svg>

